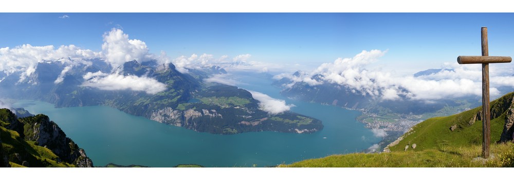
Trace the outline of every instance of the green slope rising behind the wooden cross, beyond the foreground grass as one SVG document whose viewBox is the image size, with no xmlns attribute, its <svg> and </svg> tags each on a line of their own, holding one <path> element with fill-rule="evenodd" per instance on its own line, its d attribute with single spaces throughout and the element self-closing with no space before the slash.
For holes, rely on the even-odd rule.
<svg viewBox="0 0 514 180">
<path fill-rule="evenodd" d="M 506 112 L 512 106 L 514 93 L 508 93 L 491 102 L 491 144 L 500 141 L 500 136 L 505 125 Z M 482 145 L 482 121 L 474 121 L 481 116 L 482 107 L 477 107 L 459 114 L 434 117 L 417 124 L 404 134 L 397 145 L 389 145 L 392 152 L 423 151 L 427 149 L 442 149 L 445 147 L 469 147 Z M 453 131 L 450 127 L 456 127 Z M 412 144 L 416 148 L 412 149 Z"/>
</svg>

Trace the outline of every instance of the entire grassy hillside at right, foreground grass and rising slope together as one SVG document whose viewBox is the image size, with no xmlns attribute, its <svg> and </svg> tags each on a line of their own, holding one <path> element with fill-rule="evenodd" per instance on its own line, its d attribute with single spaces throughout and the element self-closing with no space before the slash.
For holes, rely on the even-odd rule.
<svg viewBox="0 0 514 180">
<path fill-rule="evenodd" d="M 508 112 L 514 109 L 513 97 L 508 93 L 491 102 L 488 161 L 476 158 L 482 154 L 482 107 L 478 107 L 419 123 L 390 144 L 389 153 L 331 155 L 279 167 L 514 167 L 514 143 L 498 143 Z"/>
</svg>

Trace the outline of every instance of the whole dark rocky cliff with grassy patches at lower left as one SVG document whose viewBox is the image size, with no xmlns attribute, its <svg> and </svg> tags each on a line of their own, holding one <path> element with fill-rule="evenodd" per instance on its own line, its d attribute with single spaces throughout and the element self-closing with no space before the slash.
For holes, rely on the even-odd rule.
<svg viewBox="0 0 514 180">
<path fill-rule="evenodd" d="M 84 150 L 44 114 L 16 118 L 10 110 L 0 109 L 0 122 L 6 128 L 2 136 L 11 137 L 9 143 L 2 143 L 9 149 L 3 152 L 8 162 L 27 167 L 93 167 Z M 24 150 L 27 152 L 19 152 Z M 46 155 L 47 159 L 38 155 Z"/>
</svg>

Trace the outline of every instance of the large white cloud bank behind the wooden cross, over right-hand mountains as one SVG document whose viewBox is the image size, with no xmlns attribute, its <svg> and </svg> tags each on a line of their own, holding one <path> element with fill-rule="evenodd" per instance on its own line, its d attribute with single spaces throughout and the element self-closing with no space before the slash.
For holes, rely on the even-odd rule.
<svg viewBox="0 0 514 180">
<path fill-rule="evenodd" d="M 354 93 L 372 96 L 382 100 L 399 100 L 402 97 L 412 100 L 430 101 L 444 98 L 464 97 L 482 94 L 482 71 L 480 65 L 459 65 L 446 63 L 442 70 L 421 76 L 395 76 L 394 73 L 380 69 L 369 69 L 371 65 L 385 55 L 386 51 L 362 51 L 351 58 L 338 58 L 333 63 L 323 63 L 306 73 L 279 74 L 293 83 L 302 82 L 310 86 L 333 83 L 349 87 Z M 401 68 L 401 67 L 398 67 Z M 451 70 L 448 70 L 451 69 Z M 502 66 L 490 66 L 491 96 L 500 95 L 501 86 L 514 87 L 512 69 Z M 317 74 L 321 76 L 316 76 Z"/>
</svg>

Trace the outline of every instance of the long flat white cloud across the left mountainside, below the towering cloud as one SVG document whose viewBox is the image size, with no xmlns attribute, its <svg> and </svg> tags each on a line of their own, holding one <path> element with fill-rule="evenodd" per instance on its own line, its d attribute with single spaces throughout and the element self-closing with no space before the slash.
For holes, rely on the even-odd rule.
<svg viewBox="0 0 514 180">
<path fill-rule="evenodd" d="M 88 72 L 83 76 L 87 79 L 81 86 L 98 88 L 101 90 L 133 90 L 144 91 L 148 94 L 156 94 L 166 90 L 166 85 L 150 77 L 138 77 L 135 75 L 124 76 L 115 72 L 106 74 L 100 71 Z"/>
</svg>

